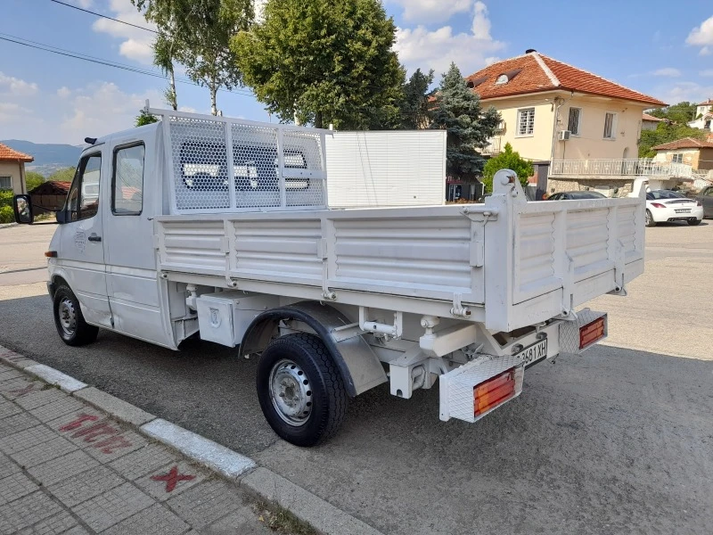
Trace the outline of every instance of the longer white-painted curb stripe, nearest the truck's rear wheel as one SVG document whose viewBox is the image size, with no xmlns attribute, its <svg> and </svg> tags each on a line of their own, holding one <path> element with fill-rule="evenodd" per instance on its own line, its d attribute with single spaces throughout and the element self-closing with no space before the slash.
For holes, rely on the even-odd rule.
<svg viewBox="0 0 713 535">
<path fill-rule="evenodd" d="M 257 467 L 249 457 L 162 418 L 143 424 L 139 430 L 230 478 L 237 478 Z"/>
</svg>

